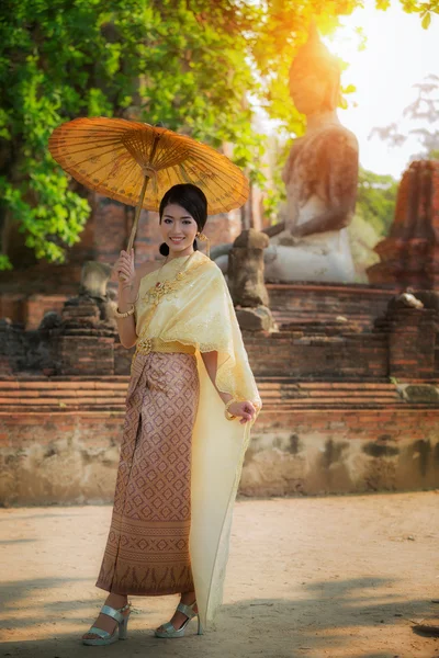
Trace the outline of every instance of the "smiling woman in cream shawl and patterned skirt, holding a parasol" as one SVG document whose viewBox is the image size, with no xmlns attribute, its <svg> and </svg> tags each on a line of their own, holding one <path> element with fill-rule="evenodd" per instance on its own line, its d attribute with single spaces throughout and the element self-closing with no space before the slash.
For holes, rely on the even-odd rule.
<svg viewBox="0 0 439 658">
<path fill-rule="evenodd" d="M 136 344 L 114 508 L 97 587 L 110 592 L 85 644 L 126 637 L 128 594 L 180 593 L 157 637 L 199 634 L 222 601 L 232 508 L 261 400 L 218 266 L 198 251 L 204 193 L 175 185 L 159 209 L 160 268 L 121 252 L 121 342 Z M 230 421 L 230 422 L 229 422 Z M 196 592 L 196 595 L 195 595 Z"/>
</svg>

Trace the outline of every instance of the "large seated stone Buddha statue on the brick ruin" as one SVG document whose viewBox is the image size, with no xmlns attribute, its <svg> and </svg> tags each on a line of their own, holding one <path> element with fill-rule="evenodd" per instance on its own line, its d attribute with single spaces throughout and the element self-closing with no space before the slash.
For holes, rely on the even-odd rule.
<svg viewBox="0 0 439 658">
<path fill-rule="evenodd" d="M 284 222 L 269 231 L 268 281 L 353 281 L 347 226 L 356 206 L 358 141 L 337 116 L 339 89 L 339 64 L 312 25 L 290 69 L 290 93 L 306 132 L 283 170 Z"/>
</svg>

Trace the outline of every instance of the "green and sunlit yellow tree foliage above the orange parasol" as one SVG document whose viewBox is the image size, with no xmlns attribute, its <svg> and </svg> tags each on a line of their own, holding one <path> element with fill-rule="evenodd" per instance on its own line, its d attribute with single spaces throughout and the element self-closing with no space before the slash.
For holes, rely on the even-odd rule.
<svg viewBox="0 0 439 658">
<path fill-rule="evenodd" d="M 421 20 L 438 2 L 401 0 Z M 219 146 L 262 180 L 249 94 L 303 131 L 286 69 L 312 18 L 324 33 L 360 0 L 3 0 L 0 9 L 0 269 L 13 226 L 36 258 L 63 262 L 89 207 L 47 151 L 76 116 L 164 122 Z M 389 2 L 378 0 L 379 9 Z"/>
</svg>

